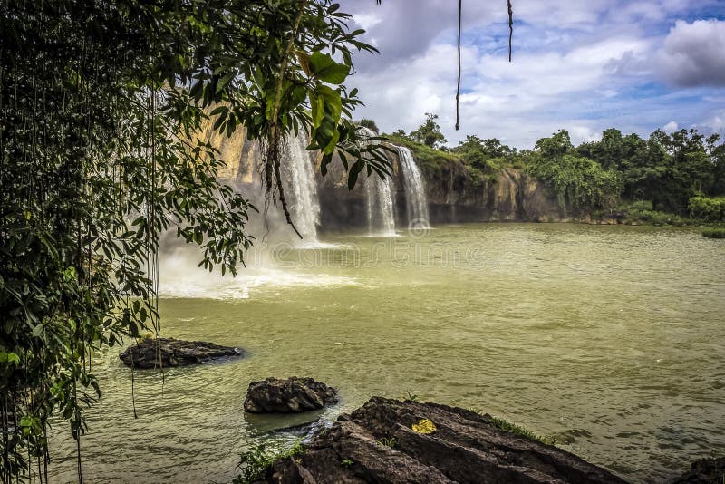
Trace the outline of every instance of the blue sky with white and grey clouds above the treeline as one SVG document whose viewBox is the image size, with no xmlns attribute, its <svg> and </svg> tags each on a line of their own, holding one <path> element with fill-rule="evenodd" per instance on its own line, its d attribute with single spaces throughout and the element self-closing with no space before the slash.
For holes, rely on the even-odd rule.
<svg viewBox="0 0 725 484">
<path fill-rule="evenodd" d="M 382 131 L 439 115 L 449 146 L 467 134 L 519 149 L 559 129 L 575 144 L 607 128 L 647 137 L 725 135 L 725 0 L 463 0 L 460 131 L 458 2 L 338 0 L 380 54 L 353 57 L 346 82 Z"/>
</svg>

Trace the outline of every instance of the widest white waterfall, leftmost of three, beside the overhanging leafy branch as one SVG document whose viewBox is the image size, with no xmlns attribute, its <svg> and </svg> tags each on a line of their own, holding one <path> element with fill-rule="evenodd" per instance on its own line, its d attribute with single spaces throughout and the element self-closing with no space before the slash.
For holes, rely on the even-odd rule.
<svg viewBox="0 0 725 484">
<path fill-rule="evenodd" d="M 304 242 L 316 242 L 317 226 L 320 225 L 320 200 L 317 198 L 314 169 L 306 146 L 301 134 L 285 137 L 285 195 L 292 220 L 304 237 Z"/>
</svg>

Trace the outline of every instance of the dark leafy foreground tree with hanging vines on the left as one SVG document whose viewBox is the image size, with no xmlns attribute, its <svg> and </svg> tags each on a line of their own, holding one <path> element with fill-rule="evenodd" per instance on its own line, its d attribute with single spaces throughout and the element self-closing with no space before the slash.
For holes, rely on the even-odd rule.
<svg viewBox="0 0 725 484">
<path fill-rule="evenodd" d="M 360 101 L 343 84 L 353 51 L 374 49 L 331 0 L 9 0 L 0 15 L 0 477 L 9 482 L 47 463 L 54 414 L 80 450 L 83 410 L 101 395 L 92 353 L 147 327 L 159 336 L 163 231 L 201 246 L 209 270 L 244 264 L 256 208 L 216 178 L 222 162 L 198 136 L 203 122 L 227 135 L 243 124 L 263 143 L 267 194 L 285 211 L 286 132 L 311 133 L 323 173 L 337 150 L 351 186 L 390 164 L 362 142 L 350 120 Z M 79 453 L 79 480 L 81 470 Z"/>
</svg>

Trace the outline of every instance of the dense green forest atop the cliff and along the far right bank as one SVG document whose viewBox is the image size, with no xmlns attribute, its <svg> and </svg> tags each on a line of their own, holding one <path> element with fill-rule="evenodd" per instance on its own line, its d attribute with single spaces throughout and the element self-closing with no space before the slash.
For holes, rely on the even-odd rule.
<svg viewBox="0 0 725 484">
<path fill-rule="evenodd" d="M 410 133 L 397 130 L 391 140 L 411 146 L 425 164 L 454 156 L 469 168 L 476 185 L 499 169 L 525 169 L 556 195 L 562 208 L 606 216 L 626 212 L 652 223 L 725 221 L 725 142 L 720 134 L 696 129 L 653 131 L 645 140 L 610 128 L 601 140 L 575 146 L 568 131 L 517 150 L 496 138 L 468 135 L 449 148 L 435 114 Z M 374 122 L 364 121 L 368 126 Z"/>
</svg>

